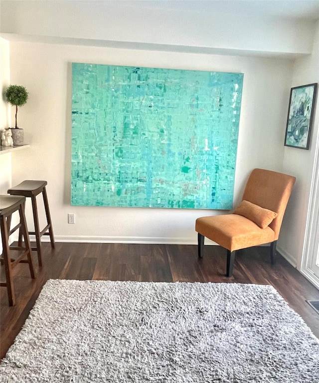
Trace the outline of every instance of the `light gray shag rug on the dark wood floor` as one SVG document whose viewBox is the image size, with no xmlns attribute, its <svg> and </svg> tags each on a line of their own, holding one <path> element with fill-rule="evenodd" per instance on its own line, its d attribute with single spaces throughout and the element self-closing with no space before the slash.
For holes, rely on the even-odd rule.
<svg viewBox="0 0 319 383">
<path fill-rule="evenodd" d="M 50 280 L 0 382 L 319 383 L 319 341 L 271 286 Z"/>
</svg>

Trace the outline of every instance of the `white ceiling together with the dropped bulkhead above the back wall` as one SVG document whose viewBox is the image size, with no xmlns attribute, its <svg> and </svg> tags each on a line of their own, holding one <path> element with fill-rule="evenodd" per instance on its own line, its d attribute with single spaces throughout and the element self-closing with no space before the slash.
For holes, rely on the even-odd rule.
<svg viewBox="0 0 319 383">
<path fill-rule="evenodd" d="M 0 0 L 7 40 L 296 58 L 319 0 Z"/>
</svg>

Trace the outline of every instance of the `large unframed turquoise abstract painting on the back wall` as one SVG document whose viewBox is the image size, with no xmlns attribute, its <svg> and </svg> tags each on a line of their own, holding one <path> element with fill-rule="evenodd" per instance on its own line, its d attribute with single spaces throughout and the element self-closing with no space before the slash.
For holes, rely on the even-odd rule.
<svg viewBox="0 0 319 383">
<path fill-rule="evenodd" d="M 231 209 L 242 73 L 72 63 L 71 204 Z"/>
</svg>

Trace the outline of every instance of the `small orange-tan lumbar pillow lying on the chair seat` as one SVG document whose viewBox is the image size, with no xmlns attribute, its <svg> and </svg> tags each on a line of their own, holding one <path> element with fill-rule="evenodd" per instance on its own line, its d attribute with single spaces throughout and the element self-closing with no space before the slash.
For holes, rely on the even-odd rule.
<svg viewBox="0 0 319 383">
<path fill-rule="evenodd" d="M 270 225 L 274 218 L 277 217 L 277 213 L 264 209 L 251 202 L 243 200 L 241 204 L 235 209 L 233 214 L 238 214 L 255 222 L 256 225 L 265 229 Z"/>
</svg>

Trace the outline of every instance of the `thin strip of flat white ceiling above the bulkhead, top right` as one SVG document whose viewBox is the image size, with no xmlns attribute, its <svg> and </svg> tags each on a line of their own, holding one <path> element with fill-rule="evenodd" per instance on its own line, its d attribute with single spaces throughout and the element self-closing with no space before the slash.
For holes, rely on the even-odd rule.
<svg viewBox="0 0 319 383">
<path fill-rule="evenodd" d="M 319 19 L 319 0 L 110 0 L 106 2 L 139 8 Z"/>
</svg>

